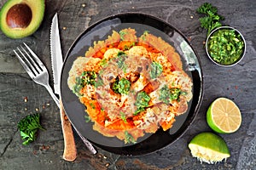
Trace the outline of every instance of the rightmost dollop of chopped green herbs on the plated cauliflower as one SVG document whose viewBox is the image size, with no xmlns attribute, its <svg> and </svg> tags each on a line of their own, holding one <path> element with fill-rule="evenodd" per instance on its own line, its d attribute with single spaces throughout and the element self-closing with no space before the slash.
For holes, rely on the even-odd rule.
<svg viewBox="0 0 256 170">
<path fill-rule="evenodd" d="M 159 99 L 168 105 L 173 99 L 178 99 L 180 94 L 180 88 L 168 88 L 167 85 L 165 85 L 160 89 Z"/>
</svg>

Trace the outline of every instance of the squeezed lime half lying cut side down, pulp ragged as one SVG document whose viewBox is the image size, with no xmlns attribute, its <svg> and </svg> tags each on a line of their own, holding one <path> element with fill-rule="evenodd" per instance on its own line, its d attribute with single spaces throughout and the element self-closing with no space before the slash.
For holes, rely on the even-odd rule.
<svg viewBox="0 0 256 170">
<path fill-rule="evenodd" d="M 224 139 L 214 133 L 199 133 L 189 143 L 192 156 L 209 164 L 226 160 L 230 151 Z"/>
</svg>

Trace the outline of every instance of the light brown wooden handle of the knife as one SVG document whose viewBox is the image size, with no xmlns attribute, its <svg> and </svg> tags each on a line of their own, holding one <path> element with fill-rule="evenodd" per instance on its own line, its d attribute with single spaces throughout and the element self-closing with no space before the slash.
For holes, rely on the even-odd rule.
<svg viewBox="0 0 256 170">
<path fill-rule="evenodd" d="M 61 114 L 61 127 L 64 138 L 64 152 L 63 159 L 66 161 L 74 161 L 77 158 L 77 148 L 73 138 L 73 129 L 71 123 L 63 109 L 62 101 L 60 99 L 60 114 Z"/>
</svg>

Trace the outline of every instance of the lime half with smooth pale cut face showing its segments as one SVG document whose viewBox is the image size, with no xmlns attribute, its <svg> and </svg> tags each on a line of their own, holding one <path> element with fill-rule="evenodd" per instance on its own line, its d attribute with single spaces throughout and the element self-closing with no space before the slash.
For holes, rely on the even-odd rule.
<svg viewBox="0 0 256 170">
<path fill-rule="evenodd" d="M 241 112 L 232 100 L 218 98 L 208 108 L 207 123 L 217 133 L 234 133 L 241 126 Z"/>
</svg>

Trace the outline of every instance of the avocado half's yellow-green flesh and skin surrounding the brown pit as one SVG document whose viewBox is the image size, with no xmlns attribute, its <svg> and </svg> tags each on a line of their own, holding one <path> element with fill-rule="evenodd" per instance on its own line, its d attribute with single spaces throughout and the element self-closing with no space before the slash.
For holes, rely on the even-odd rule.
<svg viewBox="0 0 256 170">
<path fill-rule="evenodd" d="M 9 8 L 16 4 L 26 3 L 32 10 L 32 20 L 26 28 L 16 29 L 8 26 L 6 16 Z M 0 29 L 7 37 L 17 39 L 28 37 L 38 30 L 44 19 L 45 1 L 44 0 L 9 0 L 3 4 L 0 10 Z"/>
</svg>

